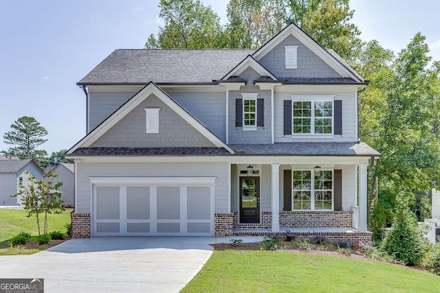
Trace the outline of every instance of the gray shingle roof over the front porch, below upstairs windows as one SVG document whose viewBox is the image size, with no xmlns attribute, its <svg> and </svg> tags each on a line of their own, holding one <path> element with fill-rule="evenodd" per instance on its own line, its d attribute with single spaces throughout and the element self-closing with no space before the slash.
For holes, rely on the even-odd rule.
<svg viewBox="0 0 440 293">
<path fill-rule="evenodd" d="M 229 145 L 246 155 L 286 156 L 380 156 L 366 143 L 274 143 L 264 145 Z"/>
</svg>

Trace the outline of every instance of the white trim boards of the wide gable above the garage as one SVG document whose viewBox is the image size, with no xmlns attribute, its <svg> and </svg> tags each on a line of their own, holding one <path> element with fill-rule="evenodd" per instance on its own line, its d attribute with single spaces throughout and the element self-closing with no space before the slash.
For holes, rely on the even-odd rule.
<svg viewBox="0 0 440 293">
<path fill-rule="evenodd" d="M 107 119 L 105 119 L 100 125 L 96 126 L 94 130 L 89 132 L 83 139 L 81 139 L 74 147 L 67 151 L 66 154 L 72 154 L 78 148 L 88 148 L 93 145 L 100 137 L 102 137 L 107 131 L 109 131 L 113 126 L 118 124 L 121 119 L 126 115 L 131 113 L 133 109 L 139 106 L 146 98 L 151 95 L 155 95 L 160 101 L 162 101 L 166 106 L 174 110 L 177 115 L 184 119 L 188 124 L 200 132 L 203 137 L 206 137 L 208 141 L 212 142 L 217 148 L 225 148 L 228 152 L 233 153 L 233 151 L 219 139 L 215 134 L 210 132 L 206 126 L 201 124 L 199 120 L 193 117 L 188 111 L 182 108 L 175 100 L 167 95 L 164 91 L 159 89 L 153 82 L 148 83 L 144 88 L 137 92 L 131 99 L 129 99 L 125 104 L 120 106 L 118 110 L 115 110 Z"/>
</svg>

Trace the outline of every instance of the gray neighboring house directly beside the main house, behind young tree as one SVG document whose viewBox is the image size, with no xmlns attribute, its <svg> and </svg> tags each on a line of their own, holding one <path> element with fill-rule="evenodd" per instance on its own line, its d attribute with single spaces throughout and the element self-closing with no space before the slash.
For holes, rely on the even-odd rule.
<svg viewBox="0 0 440 293">
<path fill-rule="evenodd" d="M 62 182 L 63 185 L 58 189 L 62 192 L 63 207 L 74 207 L 75 200 L 75 165 L 73 163 L 60 163 L 56 167 L 47 170 L 46 174 L 53 172 L 58 175 L 54 183 Z"/>
</svg>

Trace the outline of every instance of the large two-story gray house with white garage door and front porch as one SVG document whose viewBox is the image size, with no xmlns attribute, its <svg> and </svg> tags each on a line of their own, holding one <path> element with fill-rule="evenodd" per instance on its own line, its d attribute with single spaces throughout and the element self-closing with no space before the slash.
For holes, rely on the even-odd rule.
<svg viewBox="0 0 440 293">
<path fill-rule="evenodd" d="M 258 50 L 118 49 L 78 85 L 74 237 L 267 235 L 371 242 L 358 90 L 290 24 Z"/>
</svg>

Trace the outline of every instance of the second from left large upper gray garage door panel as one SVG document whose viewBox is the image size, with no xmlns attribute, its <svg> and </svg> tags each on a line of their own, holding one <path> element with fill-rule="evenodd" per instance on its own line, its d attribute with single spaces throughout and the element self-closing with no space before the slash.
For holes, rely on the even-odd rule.
<svg viewBox="0 0 440 293">
<path fill-rule="evenodd" d="M 126 188 L 126 218 L 128 220 L 150 218 L 150 187 Z"/>
</svg>

